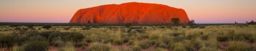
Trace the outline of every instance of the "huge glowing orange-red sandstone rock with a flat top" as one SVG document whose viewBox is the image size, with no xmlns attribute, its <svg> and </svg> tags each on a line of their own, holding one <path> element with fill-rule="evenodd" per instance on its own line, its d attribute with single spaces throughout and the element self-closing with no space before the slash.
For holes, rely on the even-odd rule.
<svg viewBox="0 0 256 51">
<path fill-rule="evenodd" d="M 172 18 L 180 18 L 181 23 L 189 22 L 183 9 L 161 4 L 129 2 L 110 4 L 78 10 L 69 23 L 172 23 Z"/>
</svg>

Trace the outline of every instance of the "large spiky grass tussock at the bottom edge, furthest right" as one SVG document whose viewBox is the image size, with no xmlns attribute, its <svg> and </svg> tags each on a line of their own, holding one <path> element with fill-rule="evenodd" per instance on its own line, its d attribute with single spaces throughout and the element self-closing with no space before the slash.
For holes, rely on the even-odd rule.
<svg viewBox="0 0 256 51">
<path fill-rule="evenodd" d="M 231 41 L 226 51 L 250 51 L 250 45 L 245 42 Z"/>
</svg>

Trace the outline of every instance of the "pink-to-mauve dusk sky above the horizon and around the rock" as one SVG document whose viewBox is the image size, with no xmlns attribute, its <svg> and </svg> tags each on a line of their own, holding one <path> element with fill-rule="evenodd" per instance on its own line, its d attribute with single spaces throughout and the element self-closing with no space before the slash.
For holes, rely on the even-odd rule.
<svg viewBox="0 0 256 51">
<path fill-rule="evenodd" d="M 0 0 L 0 22 L 68 23 L 79 9 L 126 2 L 182 8 L 196 23 L 256 21 L 256 0 Z"/>
</svg>

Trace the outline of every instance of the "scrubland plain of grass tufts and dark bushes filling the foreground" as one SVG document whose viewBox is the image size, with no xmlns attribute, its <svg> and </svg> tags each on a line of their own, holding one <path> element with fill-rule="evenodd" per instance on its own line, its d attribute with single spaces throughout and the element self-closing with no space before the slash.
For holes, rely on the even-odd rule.
<svg viewBox="0 0 256 51">
<path fill-rule="evenodd" d="M 0 51 L 256 51 L 256 25 L 0 26 Z"/>
</svg>

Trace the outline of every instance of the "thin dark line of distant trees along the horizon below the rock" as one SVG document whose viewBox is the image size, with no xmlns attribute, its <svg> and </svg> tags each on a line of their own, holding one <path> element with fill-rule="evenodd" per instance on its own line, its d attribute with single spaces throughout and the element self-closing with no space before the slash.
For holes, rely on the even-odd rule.
<svg viewBox="0 0 256 51">
<path fill-rule="evenodd" d="M 44 26 L 44 25 L 51 25 L 51 26 L 125 26 L 130 23 L 122 23 L 122 24 L 104 24 L 104 23 L 28 23 L 28 22 L 0 22 L 0 26 L 2 25 L 9 25 L 11 27 L 17 26 Z M 214 23 L 214 24 L 197 24 L 197 25 L 230 25 L 234 23 Z M 171 23 L 168 24 L 130 24 L 132 26 L 165 26 L 165 25 L 174 25 Z M 176 26 L 186 26 L 189 24 L 178 24 Z"/>
</svg>

